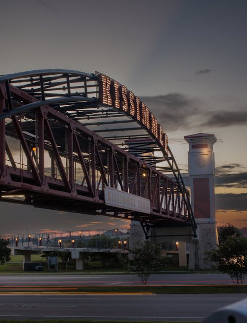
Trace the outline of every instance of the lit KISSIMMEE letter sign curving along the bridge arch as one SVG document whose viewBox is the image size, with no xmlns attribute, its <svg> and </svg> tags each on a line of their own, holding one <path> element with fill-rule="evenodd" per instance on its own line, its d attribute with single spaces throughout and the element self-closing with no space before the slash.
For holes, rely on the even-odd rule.
<svg viewBox="0 0 247 323">
<path fill-rule="evenodd" d="M 104 74 L 98 74 L 98 83 L 99 102 L 124 111 L 127 115 L 131 116 L 152 137 L 156 138 L 158 144 L 168 153 L 168 138 L 162 126 L 139 97 L 134 95 L 132 91 L 128 91 L 124 85 Z"/>
</svg>

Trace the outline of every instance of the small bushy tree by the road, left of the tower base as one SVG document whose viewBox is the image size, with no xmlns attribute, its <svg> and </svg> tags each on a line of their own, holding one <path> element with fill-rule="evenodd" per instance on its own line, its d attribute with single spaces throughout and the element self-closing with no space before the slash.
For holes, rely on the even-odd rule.
<svg viewBox="0 0 247 323">
<path fill-rule="evenodd" d="M 154 246 L 149 241 L 136 245 L 134 249 L 129 250 L 129 255 L 128 270 L 136 272 L 143 285 L 147 284 L 151 274 L 164 270 L 169 261 L 161 256 L 159 246 Z"/>
</svg>

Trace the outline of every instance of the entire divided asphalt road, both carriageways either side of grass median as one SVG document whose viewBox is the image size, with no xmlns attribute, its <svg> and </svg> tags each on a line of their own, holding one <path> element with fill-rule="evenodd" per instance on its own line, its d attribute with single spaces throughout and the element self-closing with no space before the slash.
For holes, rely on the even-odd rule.
<svg viewBox="0 0 247 323">
<path fill-rule="evenodd" d="M 140 285 L 137 275 L 1 275 L 0 286 Z M 233 284 L 223 274 L 151 275 L 149 285 Z M 246 294 L 0 293 L 0 320 L 202 321 Z"/>
</svg>

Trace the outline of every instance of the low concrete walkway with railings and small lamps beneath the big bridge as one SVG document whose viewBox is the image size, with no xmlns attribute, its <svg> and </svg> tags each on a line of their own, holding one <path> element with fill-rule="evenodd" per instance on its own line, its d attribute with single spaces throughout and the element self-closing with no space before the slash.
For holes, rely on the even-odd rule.
<svg viewBox="0 0 247 323">
<path fill-rule="evenodd" d="M 129 231 L 108 230 L 64 231 L 18 234 L 6 237 L 13 255 L 23 256 L 24 264 L 31 255 L 42 252 L 69 252 L 76 259 L 76 269 L 83 269 L 83 256 L 88 253 L 128 253 Z"/>
</svg>

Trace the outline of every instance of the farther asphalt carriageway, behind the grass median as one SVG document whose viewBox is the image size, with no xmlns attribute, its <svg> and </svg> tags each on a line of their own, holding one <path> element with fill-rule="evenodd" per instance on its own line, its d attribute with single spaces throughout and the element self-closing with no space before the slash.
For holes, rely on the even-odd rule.
<svg viewBox="0 0 247 323">
<path fill-rule="evenodd" d="M 246 280 L 247 283 L 247 280 Z M 137 275 L 2 275 L 0 286 L 105 286 L 140 285 Z M 148 285 L 225 285 L 233 284 L 226 274 L 151 275 Z"/>
</svg>

